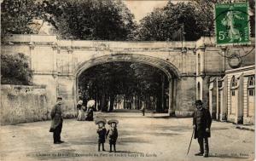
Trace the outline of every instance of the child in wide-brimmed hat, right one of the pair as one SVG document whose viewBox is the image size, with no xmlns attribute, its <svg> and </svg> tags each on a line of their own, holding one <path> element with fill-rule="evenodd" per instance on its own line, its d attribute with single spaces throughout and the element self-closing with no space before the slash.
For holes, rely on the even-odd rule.
<svg viewBox="0 0 256 161">
<path fill-rule="evenodd" d="M 110 146 L 109 152 L 112 152 L 112 145 L 113 145 L 113 152 L 116 152 L 115 143 L 119 136 L 118 130 L 117 130 L 117 124 L 119 124 L 119 121 L 112 119 L 108 121 L 108 124 L 110 125 L 110 129 L 108 129 L 106 137 L 109 137 L 109 146 Z"/>
</svg>

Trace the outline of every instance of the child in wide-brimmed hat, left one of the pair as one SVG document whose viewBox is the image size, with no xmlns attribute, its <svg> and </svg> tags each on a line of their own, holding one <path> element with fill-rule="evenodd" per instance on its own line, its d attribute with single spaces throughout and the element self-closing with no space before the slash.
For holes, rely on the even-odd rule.
<svg viewBox="0 0 256 161">
<path fill-rule="evenodd" d="M 98 124 L 98 129 L 97 129 L 97 134 L 99 135 L 98 138 L 98 151 L 101 151 L 101 145 L 102 145 L 102 151 L 105 151 L 104 149 L 104 143 L 105 143 L 105 138 L 107 129 L 105 128 L 105 124 L 107 123 L 107 120 L 104 118 L 97 119 L 96 124 Z"/>
</svg>

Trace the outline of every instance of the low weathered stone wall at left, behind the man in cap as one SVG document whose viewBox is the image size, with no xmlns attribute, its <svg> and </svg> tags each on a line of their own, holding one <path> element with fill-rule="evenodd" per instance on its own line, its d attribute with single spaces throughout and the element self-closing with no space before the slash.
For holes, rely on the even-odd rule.
<svg viewBox="0 0 256 161">
<path fill-rule="evenodd" d="M 1 85 L 1 125 L 49 119 L 44 86 Z"/>
</svg>

